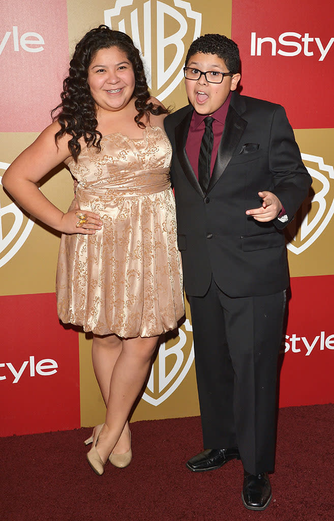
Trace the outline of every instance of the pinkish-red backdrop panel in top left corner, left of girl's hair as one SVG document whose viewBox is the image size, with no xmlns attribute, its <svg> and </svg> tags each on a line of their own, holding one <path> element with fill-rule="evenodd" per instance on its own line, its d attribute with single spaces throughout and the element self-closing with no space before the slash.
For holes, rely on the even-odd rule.
<svg viewBox="0 0 334 521">
<path fill-rule="evenodd" d="M 0 132 L 41 131 L 68 73 L 67 2 L 1 2 L 0 19 Z"/>
</svg>

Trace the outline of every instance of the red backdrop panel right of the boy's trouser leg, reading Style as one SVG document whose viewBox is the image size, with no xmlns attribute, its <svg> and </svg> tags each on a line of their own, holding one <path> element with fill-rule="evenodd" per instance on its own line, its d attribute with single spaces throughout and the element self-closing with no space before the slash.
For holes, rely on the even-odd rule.
<svg viewBox="0 0 334 521">
<path fill-rule="evenodd" d="M 280 407 L 334 402 L 334 275 L 294 277 Z"/>
</svg>

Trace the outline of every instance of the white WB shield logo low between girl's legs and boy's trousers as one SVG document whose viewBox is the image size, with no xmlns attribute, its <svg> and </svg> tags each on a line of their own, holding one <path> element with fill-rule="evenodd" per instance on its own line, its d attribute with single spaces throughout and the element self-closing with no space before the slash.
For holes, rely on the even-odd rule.
<svg viewBox="0 0 334 521">
<path fill-rule="evenodd" d="M 194 361 L 192 328 L 187 319 L 178 329 L 179 336 L 162 342 L 158 356 L 152 365 L 147 387 L 142 396 L 151 405 L 160 405 L 187 375 Z"/>
</svg>

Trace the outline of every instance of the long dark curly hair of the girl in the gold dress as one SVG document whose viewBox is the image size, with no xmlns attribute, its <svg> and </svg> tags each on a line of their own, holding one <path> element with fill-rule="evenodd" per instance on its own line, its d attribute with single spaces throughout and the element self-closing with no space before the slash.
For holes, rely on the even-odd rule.
<svg viewBox="0 0 334 521">
<path fill-rule="evenodd" d="M 53 120 L 58 120 L 60 130 L 55 135 L 57 141 L 65 134 L 72 138 L 68 147 L 75 162 L 81 152 L 80 138 L 84 138 L 88 146 L 95 146 L 101 150 L 102 134 L 96 130 L 96 104 L 87 83 L 88 67 L 100 49 L 118 47 L 131 61 L 135 75 L 135 89 L 133 97 L 138 114 L 135 121 L 140 128 L 145 124 L 140 121 L 144 115 L 167 114 L 168 110 L 160 105 L 148 102 L 150 93 L 146 83 L 143 61 L 138 49 L 127 34 L 109 29 L 105 25 L 88 31 L 75 46 L 73 58 L 70 61 L 69 75 L 63 81 L 63 91 L 60 95 L 61 103 L 52 110 Z"/>
</svg>

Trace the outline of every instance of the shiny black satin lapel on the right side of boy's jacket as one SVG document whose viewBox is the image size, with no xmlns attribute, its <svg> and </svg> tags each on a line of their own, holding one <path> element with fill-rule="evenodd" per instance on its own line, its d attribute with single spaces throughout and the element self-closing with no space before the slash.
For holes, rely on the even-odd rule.
<svg viewBox="0 0 334 521">
<path fill-rule="evenodd" d="M 224 132 L 217 152 L 216 162 L 214 164 L 212 176 L 208 186 L 208 192 L 212 190 L 216 182 L 221 177 L 227 167 L 233 153 L 238 145 L 240 138 L 247 127 L 247 121 L 242 119 L 235 108 L 230 105 L 228 107 Z"/>
</svg>

